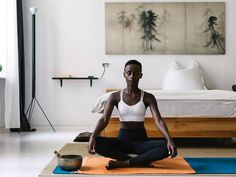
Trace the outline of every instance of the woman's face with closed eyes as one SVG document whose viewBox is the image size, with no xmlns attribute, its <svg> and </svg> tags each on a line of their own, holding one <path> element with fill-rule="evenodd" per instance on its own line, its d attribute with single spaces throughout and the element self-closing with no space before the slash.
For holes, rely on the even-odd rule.
<svg viewBox="0 0 236 177">
<path fill-rule="evenodd" d="M 135 64 L 129 64 L 125 67 L 124 77 L 128 86 L 138 86 L 139 79 L 142 78 L 140 67 Z"/>
</svg>

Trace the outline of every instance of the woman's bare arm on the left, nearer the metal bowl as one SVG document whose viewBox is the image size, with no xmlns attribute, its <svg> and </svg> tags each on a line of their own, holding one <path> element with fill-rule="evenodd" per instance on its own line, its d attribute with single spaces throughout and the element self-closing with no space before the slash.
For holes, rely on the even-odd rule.
<svg viewBox="0 0 236 177">
<path fill-rule="evenodd" d="M 104 109 L 103 115 L 98 120 L 97 125 L 96 125 L 92 135 L 89 138 L 88 152 L 90 154 L 94 154 L 95 153 L 95 145 L 96 145 L 95 138 L 107 126 L 107 124 L 108 124 L 108 122 L 110 120 L 111 113 L 113 111 L 113 108 L 114 108 L 115 104 L 116 104 L 116 97 L 115 97 L 115 93 L 113 93 L 108 98 L 107 103 L 105 105 L 105 109 Z"/>
</svg>

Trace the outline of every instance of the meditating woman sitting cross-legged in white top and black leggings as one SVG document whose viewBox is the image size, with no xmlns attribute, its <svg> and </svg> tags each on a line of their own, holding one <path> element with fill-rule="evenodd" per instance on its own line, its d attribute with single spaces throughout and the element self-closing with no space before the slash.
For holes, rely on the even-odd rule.
<svg viewBox="0 0 236 177">
<path fill-rule="evenodd" d="M 159 113 L 155 97 L 140 90 L 139 80 L 142 78 L 142 65 L 136 60 L 130 60 L 124 67 L 124 78 L 127 87 L 112 93 L 107 100 L 103 116 L 89 139 L 88 152 L 110 157 L 107 169 L 150 166 L 151 162 L 166 157 L 174 158 L 177 149 L 168 132 L 167 126 Z M 120 118 L 120 131 L 117 138 L 98 136 L 107 126 L 114 106 L 117 107 Z M 144 128 L 144 117 L 147 107 L 150 107 L 156 126 L 166 140 L 150 140 Z M 129 154 L 136 154 L 131 157 Z"/>
</svg>

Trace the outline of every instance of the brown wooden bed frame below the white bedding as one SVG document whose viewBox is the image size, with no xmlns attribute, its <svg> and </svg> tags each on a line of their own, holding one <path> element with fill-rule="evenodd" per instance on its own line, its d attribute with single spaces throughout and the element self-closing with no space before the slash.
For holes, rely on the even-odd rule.
<svg viewBox="0 0 236 177">
<path fill-rule="evenodd" d="M 117 89 L 108 89 L 107 92 Z M 174 138 L 235 138 L 236 118 L 231 117 L 163 117 L 169 132 Z M 148 137 L 162 137 L 152 117 L 145 118 Z M 118 117 L 111 117 L 101 135 L 115 137 L 120 122 Z"/>
</svg>

